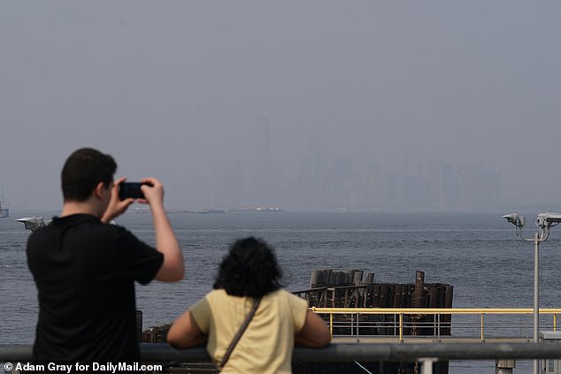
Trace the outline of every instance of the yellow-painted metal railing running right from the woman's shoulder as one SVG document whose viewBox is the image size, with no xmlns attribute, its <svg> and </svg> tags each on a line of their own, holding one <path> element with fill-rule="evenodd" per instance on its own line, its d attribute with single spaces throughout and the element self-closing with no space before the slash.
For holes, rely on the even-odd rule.
<svg viewBox="0 0 561 374">
<path fill-rule="evenodd" d="M 450 308 L 450 309 L 436 309 L 436 308 L 316 308 L 312 307 L 312 311 L 319 315 L 327 315 L 329 317 L 329 328 L 332 333 L 334 333 L 334 316 L 341 315 L 350 317 L 350 331 L 352 335 L 353 328 L 356 327 L 356 331 L 360 327 L 359 323 L 359 316 L 363 315 L 394 315 L 395 323 L 393 324 L 393 328 L 398 332 L 396 335 L 399 337 L 399 340 L 403 342 L 403 329 L 407 327 L 411 327 L 415 324 L 411 320 L 406 321 L 404 317 L 415 317 L 415 316 L 434 316 L 434 321 L 431 323 L 431 326 L 434 326 L 434 335 L 439 335 L 442 328 L 447 328 L 452 331 L 455 324 L 461 324 L 457 322 L 457 318 L 455 318 L 455 323 L 452 324 L 451 318 L 450 321 L 442 322 L 442 316 L 473 316 L 478 317 L 480 319 L 480 326 L 479 326 L 479 338 L 480 340 L 484 341 L 486 338 L 486 330 L 488 330 L 488 325 L 490 322 L 486 320 L 486 316 L 503 316 L 503 317 L 512 317 L 512 316 L 528 316 L 532 317 L 534 314 L 534 309 L 531 308 Z M 557 331 L 557 315 L 561 314 L 561 309 L 540 309 L 540 315 L 551 316 L 551 322 L 544 322 L 542 324 L 543 327 L 548 328 L 549 330 Z M 511 328 L 519 327 L 519 328 L 530 328 L 531 327 L 531 318 L 527 321 L 527 324 L 519 324 L 519 326 L 513 326 L 509 321 L 503 321 L 505 324 L 510 324 Z M 487 324 L 487 325 L 486 325 Z M 363 323 L 363 326 L 365 324 Z M 425 325 L 427 327 L 427 325 Z M 341 327 L 341 326 L 339 326 Z M 349 327 L 349 326 L 347 326 Z M 367 325 L 365 327 L 373 327 L 372 324 Z M 358 333 L 357 333 L 358 334 Z"/>
</svg>

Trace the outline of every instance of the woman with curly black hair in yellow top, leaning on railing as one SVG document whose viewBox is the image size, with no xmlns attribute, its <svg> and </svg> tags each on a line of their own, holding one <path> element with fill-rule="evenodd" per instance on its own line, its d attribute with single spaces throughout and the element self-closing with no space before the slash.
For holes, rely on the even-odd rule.
<svg viewBox="0 0 561 374">
<path fill-rule="evenodd" d="M 290 373 L 295 343 L 323 347 L 331 335 L 305 300 L 281 288 L 280 278 L 265 241 L 237 240 L 220 263 L 214 289 L 173 323 L 167 341 L 173 347 L 206 343 L 223 373 Z M 252 309 L 247 329 L 223 363 Z"/>
</svg>

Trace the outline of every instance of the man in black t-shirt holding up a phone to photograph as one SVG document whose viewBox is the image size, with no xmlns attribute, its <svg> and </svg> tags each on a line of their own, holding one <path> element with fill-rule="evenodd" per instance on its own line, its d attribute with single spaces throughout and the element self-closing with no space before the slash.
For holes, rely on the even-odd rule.
<svg viewBox="0 0 561 374">
<path fill-rule="evenodd" d="M 138 363 L 134 281 L 183 278 L 181 249 L 164 210 L 158 179 L 142 179 L 156 248 L 110 225 L 134 202 L 119 200 L 117 164 L 96 149 L 78 149 L 62 170 L 64 205 L 27 241 L 38 290 L 34 356 L 40 363 Z M 90 370 L 92 369 L 90 365 Z"/>
</svg>

